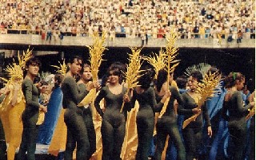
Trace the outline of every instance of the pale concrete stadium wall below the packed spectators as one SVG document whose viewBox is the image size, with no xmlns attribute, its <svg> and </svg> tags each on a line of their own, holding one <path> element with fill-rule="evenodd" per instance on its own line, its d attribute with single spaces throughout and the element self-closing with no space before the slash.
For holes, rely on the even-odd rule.
<svg viewBox="0 0 256 160">
<path fill-rule="evenodd" d="M 23 44 L 23 45 L 68 45 L 68 46 L 86 46 L 92 45 L 91 37 L 64 37 L 62 41 L 57 37 L 51 41 L 42 40 L 41 36 L 35 34 L 0 34 L 0 49 L 1 44 Z M 147 47 L 165 47 L 166 39 L 149 38 Z M 255 39 L 242 39 L 242 43 L 237 44 L 236 40 L 227 42 L 222 39 L 221 43 L 218 39 L 178 39 L 176 45 L 179 48 L 255 48 Z M 124 38 L 116 37 L 114 41 L 106 40 L 108 47 L 140 47 L 142 41 L 140 38 Z"/>
</svg>

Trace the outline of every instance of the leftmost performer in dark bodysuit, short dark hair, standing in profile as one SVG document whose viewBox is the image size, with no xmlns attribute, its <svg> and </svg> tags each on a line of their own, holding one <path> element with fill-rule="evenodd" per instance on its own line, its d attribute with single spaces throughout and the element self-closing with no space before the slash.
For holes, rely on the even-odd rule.
<svg viewBox="0 0 256 160">
<path fill-rule="evenodd" d="M 22 92 L 26 100 L 26 108 L 22 112 L 22 142 L 18 150 L 18 160 L 25 158 L 34 160 L 34 152 L 36 149 L 36 140 L 38 136 L 39 108 L 46 112 L 47 108 L 38 103 L 38 88 L 34 85 L 34 78 L 38 75 L 39 66 L 41 63 L 36 58 L 30 58 L 26 61 L 26 77 L 22 81 Z"/>
</svg>

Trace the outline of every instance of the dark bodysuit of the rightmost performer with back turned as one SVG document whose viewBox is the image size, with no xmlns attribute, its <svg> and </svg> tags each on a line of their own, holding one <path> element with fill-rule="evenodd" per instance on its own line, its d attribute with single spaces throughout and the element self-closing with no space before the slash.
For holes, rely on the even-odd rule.
<svg viewBox="0 0 256 160">
<path fill-rule="evenodd" d="M 229 101 L 224 101 L 222 116 L 228 121 L 230 137 L 234 142 L 234 160 L 241 160 L 246 147 L 246 115 L 250 104 L 244 106 L 242 93 L 235 91 Z M 229 116 L 226 112 L 229 112 Z"/>
</svg>

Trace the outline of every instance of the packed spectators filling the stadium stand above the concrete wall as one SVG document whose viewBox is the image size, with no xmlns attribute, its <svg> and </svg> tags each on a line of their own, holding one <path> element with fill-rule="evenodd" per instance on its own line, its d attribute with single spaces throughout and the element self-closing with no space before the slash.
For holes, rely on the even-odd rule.
<svg viewBox="0 0 256 160">
<path fill-rule="evenodd" d="M 255 38 L 255 1 L 1 0 L 0 33 L 162 38 Z M 241 38 L 240 38 L 241 39 Z"/>
</svg>

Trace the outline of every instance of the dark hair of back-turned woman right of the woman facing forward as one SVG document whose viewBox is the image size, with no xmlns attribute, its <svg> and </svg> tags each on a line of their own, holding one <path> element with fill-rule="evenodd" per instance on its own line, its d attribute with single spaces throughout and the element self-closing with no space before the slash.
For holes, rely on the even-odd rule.
<svg viewBox="0 0 256 160">
<path fill-rule="evenodd" d="M 138 78 L 138 85 L 143 89 L 150 88 L 150 84 L 152 83 L 155 75 L 154 69 L 146 65 L 143 66 L 141 70 L 142 72 L 140 72 L 141 76 Z"/>
</svg>

